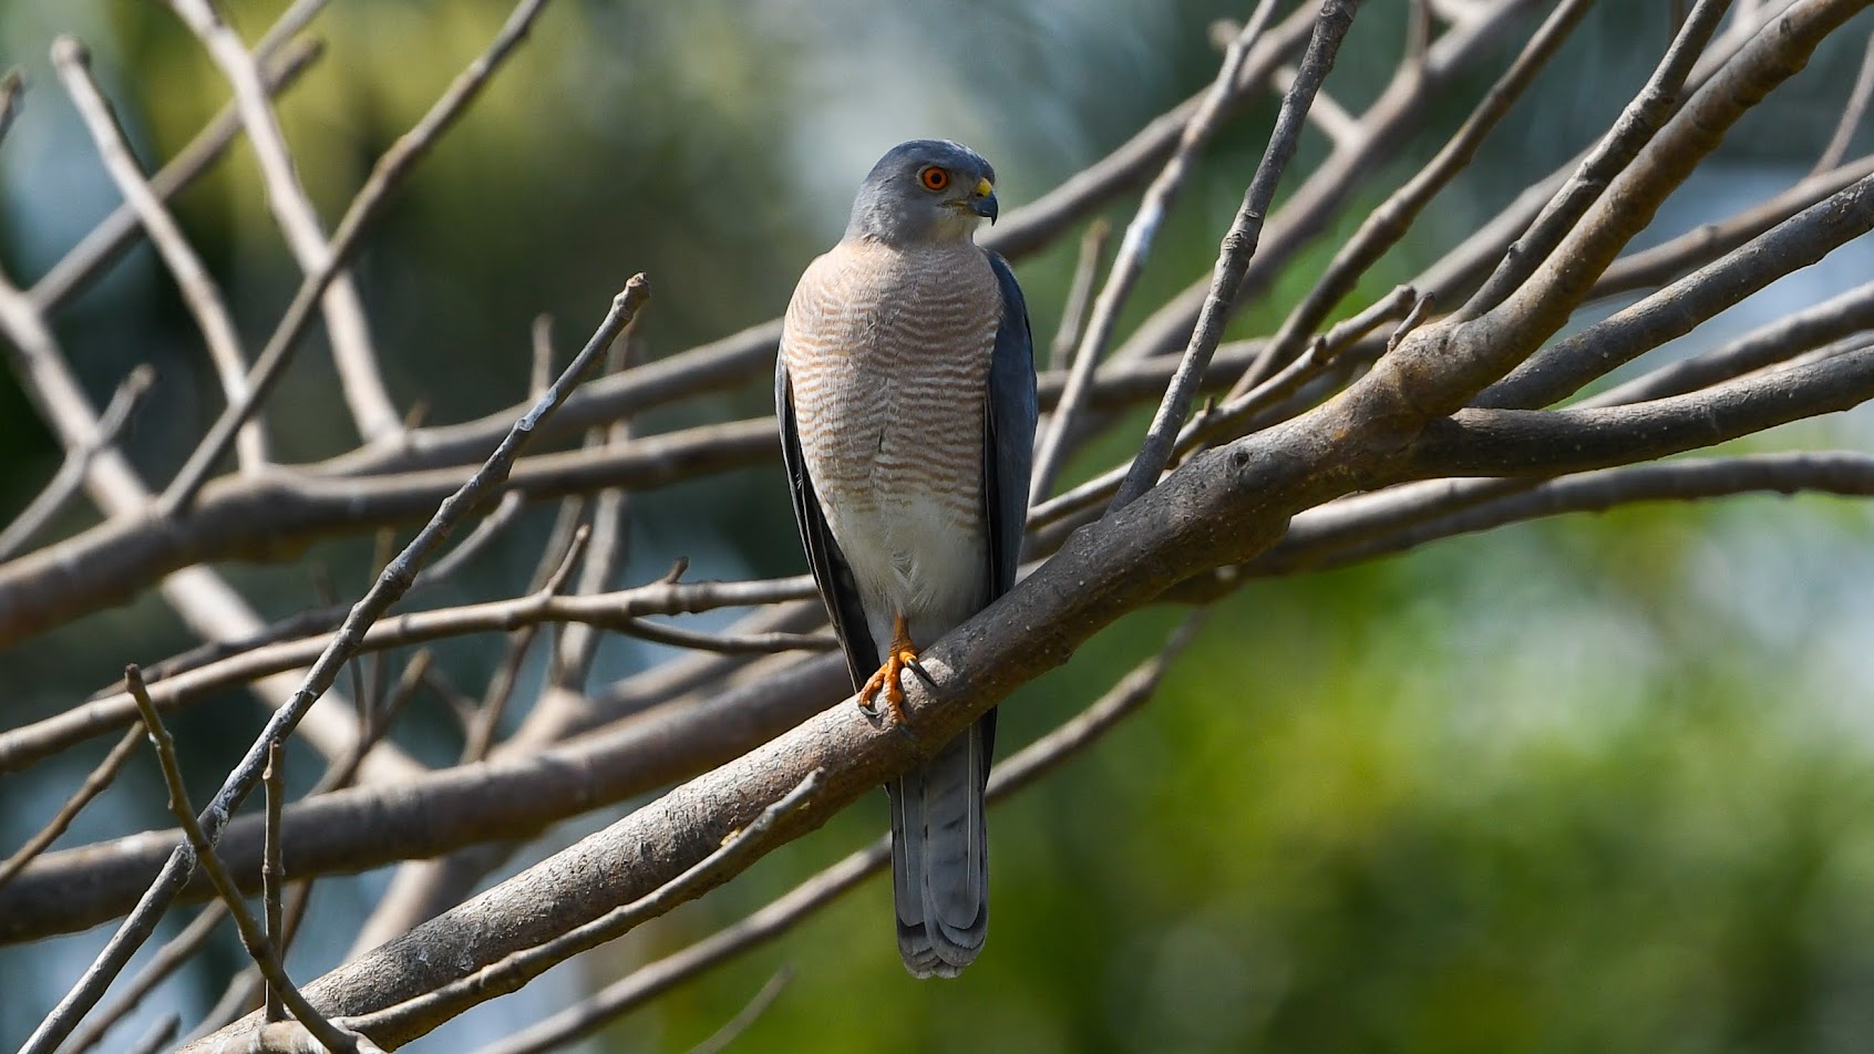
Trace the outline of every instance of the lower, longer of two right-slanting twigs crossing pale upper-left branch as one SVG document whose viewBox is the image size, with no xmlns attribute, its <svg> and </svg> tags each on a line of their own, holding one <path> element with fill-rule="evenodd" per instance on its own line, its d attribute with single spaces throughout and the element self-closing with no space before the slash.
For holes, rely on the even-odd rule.
<svg viewBox="0 0 1874 1054">
<path fill-rule="evenodd" d="M 174 2 L 206 7 L 206 0 Z M 534 24 L 534 17 L 540 15 L 545 0 L 521 0 L 513 13 L 508 15 L 506 24 L 502 24 L 487 51 L 482 52 L 482 56 L 476 58 L 468 69 L 465 69 L 448 86 L 446 92 L 442 92 L 442 97 L 429 107 L 429 112 L 425 112 L 410 131 L 397 137 L 397 142 L 394 142 L 390 150 L 377 159 L 377 165 L 371 167 L 371 176 L 365 178 L 358 197 L 354 197 L 350 206 L 345 210 L 345 217 L 339 221 L 328 251 L 315 266 L 307 268 L 305 281 L 300 283 L 300 290 L 292 296 L 292 303 L 287 305 L 287 313 L 281 316 L 279 326 L 274 329 L 274 335 L 268 337 L 266 348 L 260 350 L 253 369 L 247 373 L 245 397 L 216 417 L 216 423 L 208 429 L 201 446 L 197 446 L 189 455 L 182 472 L 178 472 L 169 489 L 163 490 L 159 509 L 165 517 L 174 517 L 195 500 L 195 492 L 208 479 L 216 462 L 221 461 L 221 455 L 227 451 L 229 442 L 232 442 L 234 432 L 279 380 L 292 350 L 300 343 L 300 335 L 311 322 L 315 303 L 324 296 L 326 288 L 332 286 L 334 279 L 339 277 L 352 253 L 358 251 L 362 234 L 382 212 L 384 200 L 397 187 L 397 183 L 403 182 L 403 176 L 410 170 L 410 167 L 414 167 L 416 161 L 420 161 L 429 148 L 435 146 L 437 139 L 455 124 L 468 103 L 472 103 L 482 92 L 482 86 L 487 84 L 487 79 L 495 73 L 495 69 L 500 67 L 502 60 L 506 60 L 521 39 L 527 37 L 527 32 Z M 212 28 L 212 24 L 206 28 Z M 257 109 L 266 112 L 264 120 L 272 120 L 272 110 L 268 110 L 264 99 L 259 101 Z M 253 116 L 259 118 L 260 114 L 255 112 Z M 347 391 L 352 391 L 350 384 L 347 384 Z M 395 419 L 395 414 L 392 414 L 392 421 L 386 427 L 390 429 L 390 434 L 395 434 L 403 425 Z"/>
</svg>

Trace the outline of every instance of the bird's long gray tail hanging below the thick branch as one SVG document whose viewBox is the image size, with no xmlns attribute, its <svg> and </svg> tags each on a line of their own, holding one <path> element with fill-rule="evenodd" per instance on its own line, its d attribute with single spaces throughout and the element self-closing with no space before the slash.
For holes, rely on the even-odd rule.
<svg viewBox="0 0 1874 1054">
<path fill-rule="evenodd" d="M 982 792 L 995 711 L 924 768 L 892 781 L 898 951 L 915 977 L 956 977 L 989 930 L 989 829 Z"/>
</svg>

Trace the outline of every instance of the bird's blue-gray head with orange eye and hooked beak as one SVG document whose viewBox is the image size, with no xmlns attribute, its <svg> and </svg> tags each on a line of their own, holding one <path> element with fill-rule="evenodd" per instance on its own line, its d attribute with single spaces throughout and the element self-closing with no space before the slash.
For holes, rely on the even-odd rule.
<svg viewBox="0 0 1874 1054">
<path fill-rule="evenodd" d="M 995 223 L 995 168 L 948 139 L 900 142 L 858 187 L 847 242 L 886 245 L 969 242 L 984 219 Z"/>
</svg>

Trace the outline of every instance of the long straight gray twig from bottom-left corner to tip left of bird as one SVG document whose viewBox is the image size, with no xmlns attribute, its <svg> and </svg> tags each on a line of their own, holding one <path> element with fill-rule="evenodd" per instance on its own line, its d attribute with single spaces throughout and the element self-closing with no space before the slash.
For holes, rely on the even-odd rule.
<svg viewBox="0 0 1874 1054">
<path fill-rule="evenodd" d="M 206 837 L 210 841 L 221 835 L 227 826 L 229 816 L 234 807 L 253 790 L 255 781 L 260 777 L 260 768 L 266 764 L 266 751 L 275 741 L 292 732 L 305 711 L 319 700 L 332 681 L 337 678 L 339 668 L 345 661 L 356 653 L 358 640 L 364 637 L 365 629 L 388 608 L 409 584 L 416 578 L 416 569 L 422 565 L 424 558 L 429 556 L 442 543 L 448 532 L 468 515 L 474 505 L 489 492 L 498 490 L 506 481 L 508 472 L 513 466 L 513 459 L 519 455 L 521 447 L 532 438 L 540 421 L 551 417 L 553 412 L 566 401 L 572 389 L 579 384 L 579 378 L 592 365 L 594 359 L 603 352 L 611 339 L 624 329 L 626 322 L 637 315 L 639 305 L 650 296 L 650 286 L 643 275 L 632 277 L 626 283 L 624 292 L 620 292 L 613 303 L 611 313 L 605 322 L 600 324 L 592 341 L 573 358 L 566 373 L 560 374 L 553 388 L 528 410 L 513 427 L 508 431 L 508 438 L 500 442 L 495 453 L 463 487 L 452 494 L 431 517 L 429 524 L 410 541 L 409 547 L 384 569 L 384 575 L 371 586 L 371 590 L 360 599 L 345 623 L 332 637 L 332 642 L 307 670 L 304 683 L 292 693 L 279 710 L 268 719 L 266 728 L 260 738 L 247 749 L 247 754 L 240 760 L 221 790 L 216 794 L 214 801 L 208 805 Z M 39 1022 L 39 1030 L 28 1039 L 26 1050 L 22 1054 L 51 1054 L 51 1048 L 58 1045 L 64 1035 L 77 1026 L 84 1011 L 88 1011 L 97 998 L 103 994 L 105 985 L 111 977 L 116 977 L 124 970 L 124 962 L 150 938 L 156 929 L 157 919 L 161 919 L 163 910 L 174 902 L 176 893 L 187 882 L 193 871 L 191 854 L 187 844 L 176 846 L 157 874 L 156 882 L 144 893 L 137 910 L 124 919 L 118 930 L 105 944 L 105 949 L 86 970 L 84 977 L 79 981 L 71 992 L 60 1000 L 58 1007 Z"/>
</svg>

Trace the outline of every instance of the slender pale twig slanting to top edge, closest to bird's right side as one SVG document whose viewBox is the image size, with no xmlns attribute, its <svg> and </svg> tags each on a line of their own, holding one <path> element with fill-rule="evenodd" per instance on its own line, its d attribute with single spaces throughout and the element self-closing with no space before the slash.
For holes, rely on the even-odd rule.
<svg viewBox="0 0 1874 1054">
<path fill-rule="evenodd" d="M 1224 64 L 1216 71 L 1203 105 L 1184 124 L 1177 150 L 1171 152 L 1164 168 L 1158 170 L 1158 176 L 1145 189 L 1139 210 L 1132 215 L 1126 232 L 1119 240 L 1119 255 L 1106 273 L 1100 296 L 1093 301 L 1093 316 L 1087 320 L 1087 331 L 1079 339 L 1079 350 L 1074 352 L 1074 363 L 1068 371 L 1066 388 L 1061 391 L 1061 403 L 1055 404 L 1055 412 L 1048 419 L 1048 429 L 1034 446 L 1034 474 L 1029 487 L 1034 496 L 1046 496 L 1053 489 L 1055 474 L 1066 457 L 1066 442 L 1074 427 L 1074 417 L 1087 397 L 1093 373 L 1100 365 L 1108 343 L 1113 339 L 1113 329 L 1119 326 L 1119 311 L 1126 305 L 1132 286 L 1145 268 L 1145 256 L 1151 253 L 1158 227 L 1171 210 L 1171 202 L 1177 200 L 1192 161 L 1203 144 L 1211 140 L 1216 125 L 1222 124 L 1237 75 L 1242 71 L 1242 64 L 1250 56 L 1250 47 L 1261 36 L 1272 11 L 1274 0 L 1261 0 L 1256 6 L 1256 13 L 1250 15 L 1250 21 L 1237 34 L 1237 39 L 1229 43 L 1229 51 L 1224 54 Z"/>
</svg>

